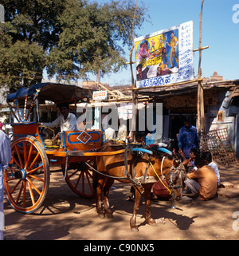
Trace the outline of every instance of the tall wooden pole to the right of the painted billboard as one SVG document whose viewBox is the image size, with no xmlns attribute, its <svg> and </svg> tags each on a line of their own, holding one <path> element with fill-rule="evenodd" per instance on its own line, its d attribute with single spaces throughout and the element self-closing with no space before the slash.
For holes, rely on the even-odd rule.
<svg viewBox="0 0 239 256">
<path fill-rule="evenodd" d="M 202 9 L 204 0 L 202 0 L 201 13 L 200 13 L 200 31 L 199 31 L 199 61 L 198 61 L 198 133 L 205 131 L 205 116 L 204 116 L 204 96 L 202 88 Z"/>
</svg>

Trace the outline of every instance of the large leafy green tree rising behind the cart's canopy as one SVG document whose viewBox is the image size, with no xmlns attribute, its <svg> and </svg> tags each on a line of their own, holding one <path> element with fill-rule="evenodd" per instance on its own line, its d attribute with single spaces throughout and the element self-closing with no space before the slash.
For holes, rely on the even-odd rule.
<svg viewBox="0 0 239 256">
<path fill-rule="evenodd" d="M 117 72 L 125 66 L 123 47 L 131 47 L 133 0 L 99 4 L 81 0 L 2 0 L 0 83 L 12 88 L 49 77 L 68 81 Z M 135 27 L 146 18 L 138 8 Z M 0 86 L 1 86 L 0 85 Z"/>
</svg>

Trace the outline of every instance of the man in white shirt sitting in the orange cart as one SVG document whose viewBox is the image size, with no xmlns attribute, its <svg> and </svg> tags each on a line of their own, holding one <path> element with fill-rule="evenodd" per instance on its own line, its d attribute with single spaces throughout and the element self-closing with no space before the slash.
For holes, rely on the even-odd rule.
<svg viewBox="0 0 239 256">
<path fill-rule="evenodd" d="M 52 123 L 41 123 L 41 125 L 49 128 L 61 127 L 61 132 L 64 131 L 77 131 L 76 116 L 69 112 L 69 104 L 61 103 L 57 104 L 61 115 L 57 117 Z M 55 140 L 60 137 L 60 132 L 55 136 Z"/>
</svg>

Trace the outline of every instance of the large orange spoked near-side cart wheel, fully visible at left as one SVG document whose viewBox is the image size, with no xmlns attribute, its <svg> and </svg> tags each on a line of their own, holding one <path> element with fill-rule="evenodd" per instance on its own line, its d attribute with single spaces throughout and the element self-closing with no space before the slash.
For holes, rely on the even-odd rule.
<svg viewBox="0 0 239 256">
<path fill-rule="evenodd" d="M 49 188 L 49 160 L 33 136 L 11 144 L 10 167 L 3 171 L 6 197 L 16 211 L 33 213 L 41 207 Z"/>
</svg>

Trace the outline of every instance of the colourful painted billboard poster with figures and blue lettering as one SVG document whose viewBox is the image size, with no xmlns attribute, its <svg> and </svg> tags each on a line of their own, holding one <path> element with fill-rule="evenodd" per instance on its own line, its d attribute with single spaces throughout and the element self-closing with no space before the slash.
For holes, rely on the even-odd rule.
<svg viewBox="0 0 239 256">
<path fill-rule="evenodd" d="M 193 22 L 135 38 L 136 87 L 194 79 Z"/>
</svg>

